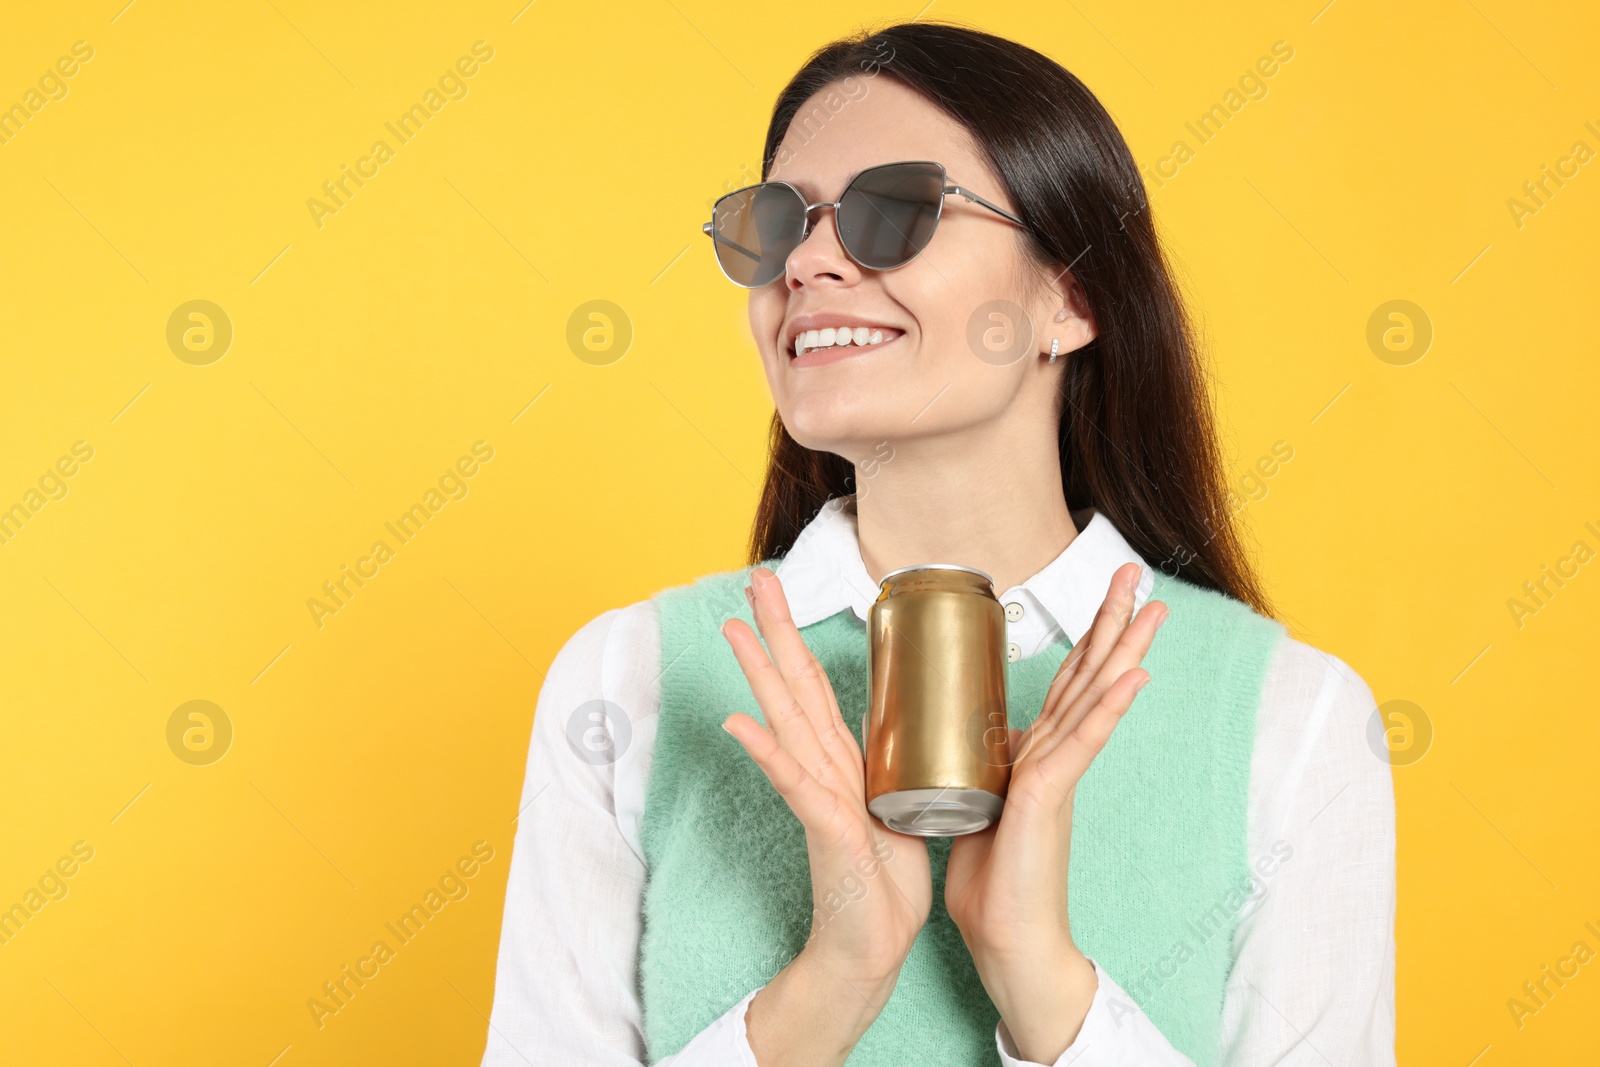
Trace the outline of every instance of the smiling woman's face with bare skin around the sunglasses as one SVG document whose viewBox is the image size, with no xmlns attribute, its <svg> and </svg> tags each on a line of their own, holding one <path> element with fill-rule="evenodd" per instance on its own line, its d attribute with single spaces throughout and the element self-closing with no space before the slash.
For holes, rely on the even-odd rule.
<svg viewBox="0 0 1600 1067">
<path fill-rule="evenodd" d="M 850 88 L 824 88 L 800 109 L 768 179 L 794 184 L 808 203 L 835 202 L 867 166 L 934 160 L 952 184 L 1016 214 L 966 131 L 939 107 L 890 77 L 854 78 Z M 837 110 L 822 106 L 830 93 Z M 802 122 L 806 115 L 813 118 Z M 811 219 L 784 275 L 750 291 L 766 381 L 797 442 L 861 461 L 882 442 L 962 434 L 1008 414 L 1053 427 L 1053 384 L 1066 362 L 1050 366 L 1040 354 L 1061 338 L 1066 357 L 1088 344 L 1094 328 L 1070 274 L 1051 282 L 1029 266 L 1019 226 L 949 194 L 922 254 L 894 270 L 869 270 L 840 246 L 832 208 L 818 208 Z M 995 301 L 1019 307 L 1027 323 L 990 317 Z M 883 341 L 816 352 L 795 365 L 795 330 L 827 325 L 866 325 Z M 1008 326 L 1032 330 L 1032 344 L 1016 358 L 1005 350 Z M 811 363 L 818 357 L 827 358 Z"/>
</svg>

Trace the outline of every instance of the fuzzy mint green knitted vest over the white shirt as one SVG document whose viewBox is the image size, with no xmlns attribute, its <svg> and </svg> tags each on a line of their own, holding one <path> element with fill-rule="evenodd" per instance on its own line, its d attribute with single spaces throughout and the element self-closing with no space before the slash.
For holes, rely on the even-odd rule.
<svg viewBox="0 0 1600 1067">
<path fill-rule="evenodd" d="M 765 721 L 720 633 L 731 616 L 754 625 L 744 600 L 752 569 L 654 597 L 664 673 L 640 825 L 648 873 L 638 965 L 650 1062 L 682 1049 L 771 981 L 810 933 L 805 832 L 722 729 L 731 712 Z M 1083 953 L 1178 1051 L 1208 1067 L 1218 1057 L 1234 929 L 1251 888 L 1245 819 L 1256 704 L 1283 625 L 1162 573 L 1152 598 L 1171 617 L 1142 662 L 1150 683 L 1078 784 L 1067 917 Z M 802 635 L 859 742 L 864 624 L 846 609 Z M 1034 721 L 1069 649 L 1059 637 L 1008 664 L 1011 726 Z M 949 853 L 949 838 L 930 840 L 933 909 L 848 1067 L 1000 1062 L 998 1011 L 944 909 Z"/>
</svg>

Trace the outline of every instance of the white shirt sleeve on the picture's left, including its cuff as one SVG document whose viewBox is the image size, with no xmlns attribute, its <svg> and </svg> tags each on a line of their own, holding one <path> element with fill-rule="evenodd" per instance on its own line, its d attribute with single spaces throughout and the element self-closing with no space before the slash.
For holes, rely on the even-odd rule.
<svg viewBox="0 0 1600 1067">
<path fill-rule="evenodd" d="M 550 664 L 528 745 L 483 1067 L 646 1062 L 638 817 L 659 664 L 650 601 L 587 622 Z M 750 995 L 658 1067 L 755 1067 L 744 1033 Z"/>
</svg>

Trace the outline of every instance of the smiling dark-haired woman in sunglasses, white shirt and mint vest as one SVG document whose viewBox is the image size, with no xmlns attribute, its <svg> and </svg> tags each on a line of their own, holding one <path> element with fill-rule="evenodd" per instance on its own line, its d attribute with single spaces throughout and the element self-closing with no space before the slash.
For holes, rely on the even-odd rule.
<svg viewBox="0 0 1600 1067">
<path fill-rule="evenodd" d="M 816 53 L 763 160 L 707 226 L 776 405 L 760 566 L 550 667 L 483 1062 L 1394 1062 L 1373 697 L 1269 616 L 1106 110 L 906 24 Z M 957 838 L 862 795 L 864 616 L 931 561 L 1010 641 Z"/>
</svg>

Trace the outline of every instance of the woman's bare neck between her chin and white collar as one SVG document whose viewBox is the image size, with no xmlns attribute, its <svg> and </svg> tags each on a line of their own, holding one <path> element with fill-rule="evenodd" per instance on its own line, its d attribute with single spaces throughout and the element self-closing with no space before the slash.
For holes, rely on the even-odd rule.
<svg viewBox="0 0 1600 1067">
<path fill-rule="evenodd" d="M 1018 419 L 894 442 L 856 464 L 856 528 L 867 574 L 918 563 L 987 571 L 995 593 L 1019 585 L 1078 531 L 1061 491 L 1054 426 Z"/>
</svg>

